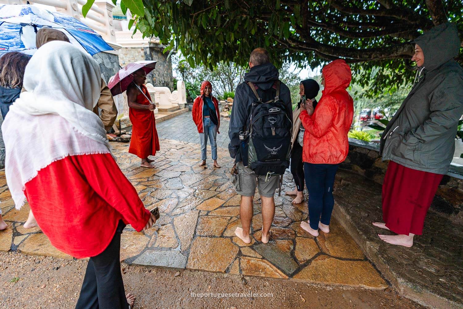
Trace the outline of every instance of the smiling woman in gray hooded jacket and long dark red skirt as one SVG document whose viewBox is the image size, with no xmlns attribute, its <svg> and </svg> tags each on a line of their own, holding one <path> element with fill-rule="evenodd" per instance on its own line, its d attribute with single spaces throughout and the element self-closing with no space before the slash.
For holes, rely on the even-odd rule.
<svg viewBox="0 0 463 309">
<path fill-rule="evenodd" d="M 381 139 L 383 160 L 390 160 L 382 187 L 385 223 L 373 225 L 397 235 L 379 237 L 413 246 L 438 185 L 455 151 L 463 114 L 463 69 L 453 60 L 460 50 L 457 27 L 445 23 L 414 42 L 417 76 L 412 90 L 389 121 Z"/>
</svg>

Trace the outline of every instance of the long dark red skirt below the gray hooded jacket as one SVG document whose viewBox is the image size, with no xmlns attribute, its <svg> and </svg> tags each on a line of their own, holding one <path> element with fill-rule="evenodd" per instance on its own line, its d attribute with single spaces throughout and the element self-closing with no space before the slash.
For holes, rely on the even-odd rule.
<svg viewBox="0 0 463 309">
<path fill-rule="evenodd" d="M 386 227 L 397 234 L 421 235 L 442 177 L 389 161 L 382 185 L 382 218 Z"/>
</svg>

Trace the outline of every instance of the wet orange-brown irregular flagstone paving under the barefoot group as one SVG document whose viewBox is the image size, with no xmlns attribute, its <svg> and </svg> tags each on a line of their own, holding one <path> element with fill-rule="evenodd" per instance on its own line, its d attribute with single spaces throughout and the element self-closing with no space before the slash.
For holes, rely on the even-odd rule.
<svg viewBox="0 0 463 309">
<path fill-rule="evenodd" d="M 202 271 L 290 278 L 327 284 L 383 289 L 388 283 L 368 261 L 344 228 L 333 219 L 331 232 L 313 238 L 300 228 L 307 205 L 293 205 L 290 196 L 275 195 L 275 220 L 268 244 L 261 242 L 261 201 L 255 196 L 252 242 L 244 244 L 234 231 L 239 220 L 240 197 L 228 177 L 232 160 L 219 148 L 223 168 L 206 168 L 199 145 L 161 139 L 154 169 L 139 166 L 129 144 L 112 143 L 120 168 L 138 190 L 146 208 L 159 207 L 161 218 L 150 230 L 138 233 L 131 226 L 121 237 L 121 259 L 126 263 Z M 9 227 L 0 232 L 0 250 L 71 258 L 50 245 L 35 228 L 23 227 L 29 206 L 16 210 L 0 171 L 0 207 Z M 283 188 L 292 188 L 284 177 Z M 307 198 L 307 196 L 306 196 Z"/>
</svg>

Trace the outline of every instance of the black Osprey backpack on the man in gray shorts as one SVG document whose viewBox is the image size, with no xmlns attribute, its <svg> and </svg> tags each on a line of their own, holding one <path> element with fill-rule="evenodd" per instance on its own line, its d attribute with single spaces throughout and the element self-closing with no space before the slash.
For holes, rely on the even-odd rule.
<svg viewBox="0 0 463 309">
<path fill-rule="evenodd" d="M 262 102 L 256 86 L 248 82 L 256 95 L 252 103 L 248 131 L 248 167 L 259 176 L 283 175 L 289 167 L 293 123 L 286 105 L 280 100 L 280 81 L 276 81 L 274 99 Z"/>
</svg>

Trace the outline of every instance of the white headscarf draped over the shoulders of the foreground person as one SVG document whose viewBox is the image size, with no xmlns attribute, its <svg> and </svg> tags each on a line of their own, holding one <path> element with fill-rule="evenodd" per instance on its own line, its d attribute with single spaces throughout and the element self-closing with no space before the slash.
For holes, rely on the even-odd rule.
<svg viewBox="0 0 463 309">
<path fill-rule="evenodd" d="M 25 183 L 52 162 L 111 153 L 104 126 L 92 111 L 100 82 L 98 63 L 70 43 L 49 42 L 31 57 L 23 81 L 26 91 L 1 127 L 6 182 L 17 209 L 24 204 Z"/>
</svg>

